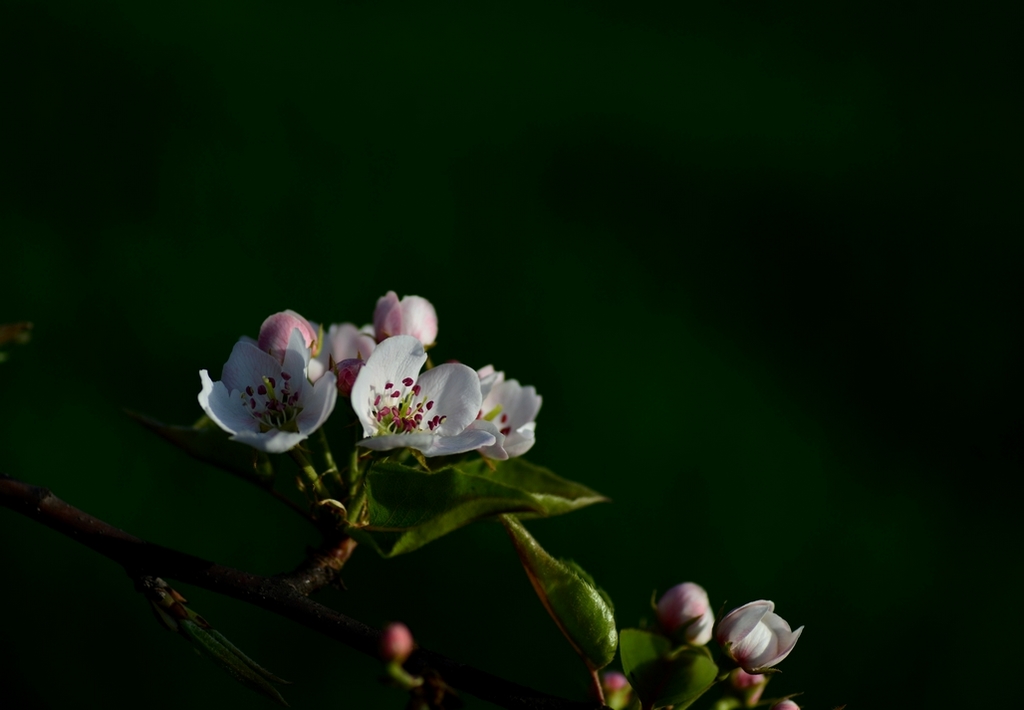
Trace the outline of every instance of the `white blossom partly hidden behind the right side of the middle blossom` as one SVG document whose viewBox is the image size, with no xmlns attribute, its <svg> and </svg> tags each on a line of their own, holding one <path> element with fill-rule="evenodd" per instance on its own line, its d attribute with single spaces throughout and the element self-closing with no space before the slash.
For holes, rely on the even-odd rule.
<svg viewBox="0 0 1024 710">
<path fill-rule="evenodd" d="M 505 373 L 490 365 L 477 370 L 477 375 L 483 403 L 473 428 L 495 434 L 495 444 L 481 448 L 480 453 L 502 460 L 522 456 L 534 446 L 541 395 L 532 385 L 523 387 L 517 380 L 506 380 Z"/>
</svg>

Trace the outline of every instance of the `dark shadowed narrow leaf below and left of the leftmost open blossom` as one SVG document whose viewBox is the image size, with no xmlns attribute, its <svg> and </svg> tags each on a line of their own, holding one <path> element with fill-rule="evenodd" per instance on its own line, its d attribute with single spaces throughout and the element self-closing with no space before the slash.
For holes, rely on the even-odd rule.
<svg viewBox="0 0 1024 710">
<path fill-rule="evenodd" d="M 195 426 L 173 426 L 135 412 L 127 414 L 200 461 L 260 486 L 265 487 L 272 483 L 273 464 L 269 457 L 250 446 L 230 441 L 230 434 L 206 416 Z"/>
</svg>

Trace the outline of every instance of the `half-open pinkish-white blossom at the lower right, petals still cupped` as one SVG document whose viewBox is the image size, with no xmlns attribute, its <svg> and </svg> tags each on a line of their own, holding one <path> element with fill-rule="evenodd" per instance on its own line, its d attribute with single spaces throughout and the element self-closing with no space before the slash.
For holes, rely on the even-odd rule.
<svg viewBox="0 0 1024 710">
<path fill-rule="evenodd" d="M 775 603 L 751 601 L 725 615 L 718 625 L 718 642 L 748 673 L 763 673 L 790 655 L 803 632 L 775 614 Z"/>
</svg>

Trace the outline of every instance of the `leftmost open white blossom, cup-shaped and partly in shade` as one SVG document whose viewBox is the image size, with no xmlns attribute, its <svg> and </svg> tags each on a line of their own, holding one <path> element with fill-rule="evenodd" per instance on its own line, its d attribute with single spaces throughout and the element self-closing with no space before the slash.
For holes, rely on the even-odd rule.
<svg viewBox="0 0 1024 710">
<path fill-rule="evenodd" d="M 306 379 L 307 338 L 293 328 L 281 361 L 252 341 L 234 343 L 221 379 L 199 376 L 199 404 L 231 440 L 280 454 L 306 438 L 327 420 L 338 399 L 334 373 L 315 384 Z"/>
</svg>

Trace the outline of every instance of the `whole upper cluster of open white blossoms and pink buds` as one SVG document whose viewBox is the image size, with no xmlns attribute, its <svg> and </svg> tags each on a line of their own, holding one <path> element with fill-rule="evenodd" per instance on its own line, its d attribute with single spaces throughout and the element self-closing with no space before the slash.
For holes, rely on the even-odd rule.
<svg viewBox="0 0 1024 710">
<path fill-rule="evenodd" d="M 199 402 L 232 440 L 267 453 L 316 431 L 339 396 L 362 427 L 364 449 L 428 457 L 476 451 L 493 459 L 528 451 L 541 408 L 534 387 L 492 366 L 452 362 L 422 371 L 436 338 L 430 301 L 394 291 L 361 328 L 341 323 L 325 331 L 285 310 L 267 318 L 255 340 L 234 344 L 219 381 L 200 372 Z"/>
</svg>

